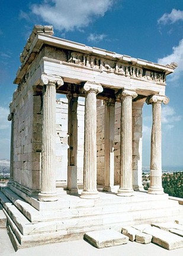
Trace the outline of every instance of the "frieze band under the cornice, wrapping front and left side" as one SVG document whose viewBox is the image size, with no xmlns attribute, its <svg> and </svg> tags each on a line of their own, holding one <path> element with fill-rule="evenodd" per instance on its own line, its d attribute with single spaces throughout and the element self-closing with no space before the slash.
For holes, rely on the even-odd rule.
<svg viewBox="0 0 183 256">
<path fill-rule="evenodd" d="M 59 60 L 63 64 L 79 65 L 81 67 L 92 68 L 100 72 L 114 73 L 119 76 L 131 77 L 133 79 L 147 80 L 165 85 L 166 75 L 160 71 L 148 70 L 134 63 L 124 63 L 122 60 L 110 60 L 99 56 L 84 54 L 82 52 L 68 51 L 45 46 L 33 61 L 29 70 L 24 74 L 18 83 L 18 91 L 23 88 L 27 80 L 33 76 L 43 57 Z"/>
</svg>

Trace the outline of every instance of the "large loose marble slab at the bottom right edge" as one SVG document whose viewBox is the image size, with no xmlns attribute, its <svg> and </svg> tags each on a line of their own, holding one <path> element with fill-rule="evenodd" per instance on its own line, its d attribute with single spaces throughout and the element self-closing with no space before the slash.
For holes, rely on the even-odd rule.
<svg viewBox="0 0 183 256">
<path fill-rule="evenodd" d="M 165 249 L 171 250 L 183 247 L 183 238 L 166 230 L 150 226 L 144 229 L 143 232 L 152 235 L 152 242 L 160 245 Z"/>
</svg>

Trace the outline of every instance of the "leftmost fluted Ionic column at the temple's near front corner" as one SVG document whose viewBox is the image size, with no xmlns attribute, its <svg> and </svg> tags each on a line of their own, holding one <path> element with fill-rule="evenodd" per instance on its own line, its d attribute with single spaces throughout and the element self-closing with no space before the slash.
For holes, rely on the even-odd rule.
<svg viewBox="0 0 183 256">
<path fill-rule="evenodd" d="M 42 75 L 43 82 L 43 146 L 41 152 L 41 192 L 39 201 L 56 201 L 55 134 L 56 134 L 56 86 L 63 80 L 51 80 Z"/>
</svg>

